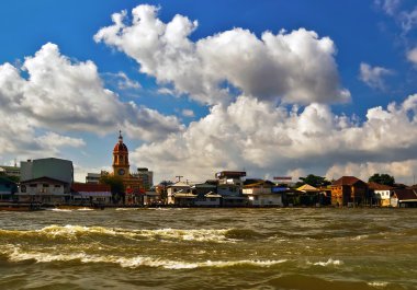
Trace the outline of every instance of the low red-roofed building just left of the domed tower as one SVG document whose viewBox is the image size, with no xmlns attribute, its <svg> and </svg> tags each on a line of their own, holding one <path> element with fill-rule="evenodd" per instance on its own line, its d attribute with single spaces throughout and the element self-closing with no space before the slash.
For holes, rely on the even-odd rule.
<svg viewBox="0 0 417 290">
<path fill-rule="evenodd" d="M 74 183 L 71 186 L 71 200 L 76 205 L 110 205 L 112 193 L 109 185 Z"/>
</svg>

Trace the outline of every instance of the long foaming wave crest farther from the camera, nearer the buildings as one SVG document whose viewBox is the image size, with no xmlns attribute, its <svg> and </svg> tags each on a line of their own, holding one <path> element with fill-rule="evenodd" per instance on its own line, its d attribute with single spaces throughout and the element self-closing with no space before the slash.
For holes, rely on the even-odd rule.
<svg viewBox="0 0 417 290">
<path fill-rule="evenodd" d="M 236 232 L 237 231 L 237 232 Z M 82 227 L 82 225 L 48 225 L 40 230 L 16 231 L 0 230 L 0 237 L 44 237 L 44 239 L 68 239 L 78 240 L 82 237 L 93 237 L 94 235 L 121 236 L 126 239 L 153 240 L 161 242 L 172 241 L 195 241 L 214 243 L 235 243 L 238 237 L 236 233 L 240 230 L 179 230 L 179 229 L 157 229 L 157 230 L 129 230 L 120 228 Z M 243 237 L 243 236 L 239 236 Z"/>
</svg>

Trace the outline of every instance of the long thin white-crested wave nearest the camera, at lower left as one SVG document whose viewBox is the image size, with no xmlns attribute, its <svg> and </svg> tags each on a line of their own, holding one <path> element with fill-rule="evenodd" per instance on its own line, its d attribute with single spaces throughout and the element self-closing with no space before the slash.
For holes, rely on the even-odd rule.
<svg viewBox="0 0 417 290">
<path fill-rule="evenodd" d="M 136 256 L 136 257 L 119 257 L 113 255 L 89 255 L 86 253 L 70 253 L 70 254 L 50 254 L 41 252 L 23 252 L 21 248 L 13 246 L 9 247 L 9 253 L 3 255 L 8 256 L 10 262 L 24 262 L 35 260 L 36 263 L 54 263 L 54 262 L 80 262 L 87 263 L 106 263 L 117 264 L 124 268 L 137 267 L 155 267 L 165 269 L 195 269 L 195 268 L 224 268 L 236 266 L 253 266 L 253 267 L 271 267 L 278 264 L 285 263 L 286 259 L 278 260 L 257 260 L 257 259 L 243 259 L 243 260 L 205 260 L 205 262 L 184 262 L 184 260 L 170 260 L 156 257 Z"/>
</svg>

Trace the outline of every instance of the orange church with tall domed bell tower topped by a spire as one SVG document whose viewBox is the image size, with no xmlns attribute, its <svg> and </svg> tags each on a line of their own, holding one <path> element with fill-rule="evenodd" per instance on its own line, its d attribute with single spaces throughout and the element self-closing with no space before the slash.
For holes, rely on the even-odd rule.
<svg viewBox="0 0 417 290">
<path fill-rule="evenodd" d="M 113 149 L 113 176 L 123 181 L 125 188 L 125 205 L 139 205 L 143 202 L 145 193 L 138 176 L 131 174 L 131 164 L 128 162 L 128 149 L 123 142 L 122 131 L 119 134 L 119 141 Z"/>
</svg>

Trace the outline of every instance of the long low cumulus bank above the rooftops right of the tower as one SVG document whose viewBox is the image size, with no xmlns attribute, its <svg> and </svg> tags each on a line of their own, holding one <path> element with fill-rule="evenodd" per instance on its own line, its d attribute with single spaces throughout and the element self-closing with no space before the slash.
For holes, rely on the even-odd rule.
<svg viewBox="0 0 417 290">
<path fill-rule="evenodd" d="M 162 178 L 178 173 L 191 181 L 225 169 L 272 176 L 325 174 L 335 164 L 401 164 L 417 153 L 416 112 L 417 95 L 370 108 L 363 123 L 336 115 L 324 104 L 286 108 L 239 96 L 229 105 L 213 106 L 182 134 L 143 144 L 131 155 Z"/>
</svg>

